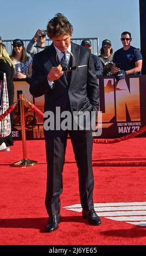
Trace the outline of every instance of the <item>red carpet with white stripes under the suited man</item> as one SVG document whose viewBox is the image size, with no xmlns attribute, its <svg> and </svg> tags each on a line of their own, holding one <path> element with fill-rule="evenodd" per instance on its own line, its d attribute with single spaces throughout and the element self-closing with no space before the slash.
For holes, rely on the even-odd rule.
<svg viewBox="0 0 146 256">
<path fill-rule="evenodd" d="M 104 159 L 144 159 L 146 138 L 93 146 L 93 162 Z M 45 141 L 27 141 L 27 157 L 34 167 L 10 164 L 22 159 L 22 142 L 0 153 L 1 245 L 145 245 L 145 167 L 93 167 L 94 203 L 102 225 L 93 227 L 81 218 L 78 170 L 68 139 L 61 195 L 62 222 L 45 233 L 47 212 Z M 129 223 L 130 222 L 130 223 Z"/>
</svg>

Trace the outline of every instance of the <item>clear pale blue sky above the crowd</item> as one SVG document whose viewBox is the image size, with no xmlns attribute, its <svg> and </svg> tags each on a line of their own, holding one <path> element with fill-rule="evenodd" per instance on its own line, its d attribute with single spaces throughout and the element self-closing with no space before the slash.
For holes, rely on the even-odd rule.
<svg viewBox="0 0 146 256">
<path fill-rule="evenodd" d="M 31 39 L 37 29 L 46 29 L 56 13 L 72 23 L 72 38 L 110 39 L 113 52 L 122 47 L 120 34 L 129 31 L 131 45 L 140 48 L 139 0 L 6 0 L 1 3 L 2 39 Z"/>
</svg>

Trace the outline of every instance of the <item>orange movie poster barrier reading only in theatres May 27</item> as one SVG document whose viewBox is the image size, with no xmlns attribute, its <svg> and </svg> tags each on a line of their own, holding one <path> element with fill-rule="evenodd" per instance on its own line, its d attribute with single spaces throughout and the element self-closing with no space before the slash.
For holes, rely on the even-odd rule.
<svg viewBox="0 0 146 256">
<path fill-rule="evenodd" d="M 138 131 L 146 124 L 146 76 L 127 76 L 118 82 L 115 77 L 99 77 L 100 120 L 98 138 L 122 137 Z M 18 94 L 34 103 L 43 113 L 44 96 L 33 98 L 29 93 L 29 83 L 14 81 L 15 101 Z M 43 118 L 25 107 L 27 139 L 43 139 Z M 99 119 L 99 118 L 98 118 Z M 94 134 L 95 136 L 97 133 Z M 12 136 L 21 139 L 21 120 L 19 106 L 14 110 Z M 144 136 L 144 134 L 143 134 Z"/>
</svg>

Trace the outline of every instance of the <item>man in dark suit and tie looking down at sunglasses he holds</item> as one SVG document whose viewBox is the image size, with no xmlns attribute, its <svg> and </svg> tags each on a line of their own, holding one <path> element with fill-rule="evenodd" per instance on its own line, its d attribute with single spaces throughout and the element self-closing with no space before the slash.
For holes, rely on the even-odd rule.
<svg viewBox="0 0 146 256">
<path fill-rule="evenodd" d="M 92 131 L 87 130 L 85 124 L 82 127 L 78 125 L 78 128 L 76 126 L 85 112 L 90 114 L 94 111 L 97 114 L 99 86 L 91 51 L 73 44 L 72 32 L 73 27 L 66 17 L 56 14 L 47 25 L 47 33 L 53 43 L 35 54 L 33 60 L 30 93 L 35 97 L 45 94 L 47 232 L 56 230 L 61 221 L 59 197 L 62 193 L 62 170 L 68 133 L 79 170 L 82 217 L 87 218 L 90 224 L 101 224 L 93 205 Z M 67 125 L 65 129 L 63 124 L 68 113 L 69 121 L 75 120 L 75 123 Z M 48 115 L 53 115 L 54 119 L 48 121 Z"/>
</svg>

